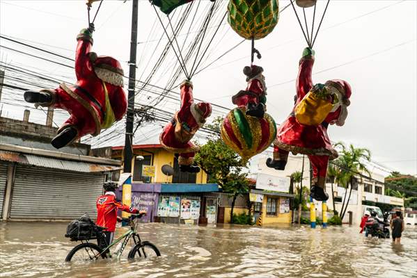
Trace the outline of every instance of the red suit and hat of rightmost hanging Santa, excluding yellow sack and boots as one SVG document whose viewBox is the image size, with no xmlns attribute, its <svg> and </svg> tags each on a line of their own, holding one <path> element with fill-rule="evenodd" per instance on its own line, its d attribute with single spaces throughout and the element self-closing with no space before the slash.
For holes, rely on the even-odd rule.
<svg viewBox="0 0 417 278">
<path fill-rule="evenodd" d="M 294 108 L 304 99 L 313 87 L 312 71 L 314 64 L 313 54 L 305 55 L 299 62 L 299 74 L 297 76 L 297 99 Z M 294 114 L 294 108 L 290 116 L 279 126 L 276 140 L 274 141 L 274 161 L 287 161 L 288 152 L 292 154 L 307 154 L 313 168 L 313 186 L 324 188 L 327 164 L 329 159 L 334 159 L 338 153 L 331 146 L 327 135 L 327 126 L 336 124 L 343 126 L 347 117 L 347 106 L 352 94 L 350 85 L 346 81 L 331 80 L 324 86 L 333 95 L 337 95 L 338 101 L 333 104 L 331 112 L 325 120 L 315 125 L 300 124 Z M 285 167 L 285 164 L 284 164 Z M 282 169 L 283 170 L 283 169 Z"/>
</svg>

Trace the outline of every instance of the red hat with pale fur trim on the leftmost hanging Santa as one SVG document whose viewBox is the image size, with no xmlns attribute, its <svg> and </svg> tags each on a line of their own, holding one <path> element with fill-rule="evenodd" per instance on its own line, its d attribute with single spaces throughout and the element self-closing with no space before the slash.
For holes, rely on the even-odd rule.
<svg viewBox="0 0 417 278">
<path fill-rule="evenodd" d="M 123 69 L 119 61 L 110 56 L 98 56 L 94 52 L 88 54 L 93 62 L 94 72 L 99 79 L 112 85 L 123 87 Z"/>
</svg>

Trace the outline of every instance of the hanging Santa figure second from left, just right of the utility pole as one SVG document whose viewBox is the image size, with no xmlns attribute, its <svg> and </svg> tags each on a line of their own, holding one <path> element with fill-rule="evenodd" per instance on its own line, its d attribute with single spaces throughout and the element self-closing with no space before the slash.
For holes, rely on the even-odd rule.
<svg viewBox="0 0 417 278">
<path fill-rule="evenodd" d="M 159 142 L 168 150 L 178 155 L 181 172 L 200 172 L 200 167 L 193 165 L 198 146 L 191 142 L 194 134 L 205 124 L 212 114 L 212 106 L 207 102 L 194 103 L 193 84 L 184 81 L 180 85 L 181 106 L 171 122 L 168 122 L 159 136 Z"/>
</svg>

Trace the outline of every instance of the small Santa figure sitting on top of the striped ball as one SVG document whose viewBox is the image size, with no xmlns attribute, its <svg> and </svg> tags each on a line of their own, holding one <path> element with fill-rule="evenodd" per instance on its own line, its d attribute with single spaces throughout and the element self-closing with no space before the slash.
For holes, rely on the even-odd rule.
<svg viewBox="0 0 417 278">
<path fill-rule="evenodd" d="M 257 65 L 244 67 L 243 73 L 246 75 L 246 90 L 240 90 L 232 97 L 233 104 L 238 107 L 246 108 L 246 115 L 262 118 L 267 110 L 267 86 L 263 68 Z"/>
</svg>

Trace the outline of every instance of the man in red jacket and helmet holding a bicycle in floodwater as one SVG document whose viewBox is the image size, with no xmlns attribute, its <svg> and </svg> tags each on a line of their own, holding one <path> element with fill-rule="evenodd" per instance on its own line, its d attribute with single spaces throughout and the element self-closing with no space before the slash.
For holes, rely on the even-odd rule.
<svg viewBox="0 0 417 278">
<path fill-rule="evenodd" d="M 107 230 L 104 231 L 104 235 L 106 236 L 106 245 L 110 245 L 113 241 L 114 230 L 116 229 L 118 209 L 126 211 L 127 213 L 139 213 L 143 215 L 146 214 L 146 211 L 138 211 L 136 208 L 118 202 L 116 200 L 116 194 L 114 193 L 117 188 L 117 183 L 104 183 L 103 188 L 104 195 L 98 197 L 97 202 L 95 203 L 97 206 L 97 222 L 95 224 L 107 228 Z"/>
</svg>

